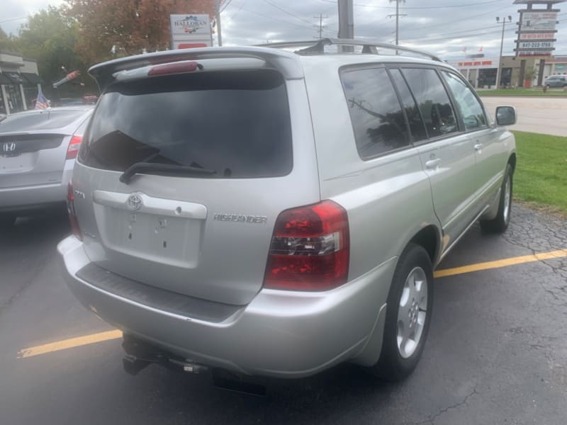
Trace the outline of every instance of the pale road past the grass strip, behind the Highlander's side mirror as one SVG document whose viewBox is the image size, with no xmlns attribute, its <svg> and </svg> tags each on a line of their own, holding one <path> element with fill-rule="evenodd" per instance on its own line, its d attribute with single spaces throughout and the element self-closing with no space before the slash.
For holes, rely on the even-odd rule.
<svg viewBox="0 0 567 425">
<path fill-rule="evenodd" d="M 483 96 L 482 101 L 493 117 L 497 106 L 515 106 L 518 121 L 510 130 L 567 136 L 567 98 Z"/>
</svg>

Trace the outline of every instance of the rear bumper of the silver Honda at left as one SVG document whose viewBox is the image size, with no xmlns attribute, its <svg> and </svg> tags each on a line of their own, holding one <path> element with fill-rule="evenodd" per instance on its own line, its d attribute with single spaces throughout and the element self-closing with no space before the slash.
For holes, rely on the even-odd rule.
<svg viewBox="0 0 567 425">
<path fill-rule="evenodd" d="M 0 212 L 29 212 L 51 205 L 63 205 L 67 199 L 67 183 L 73 174 L 74 160 L 67 160 L 58 183 L 0 188 Z M 1 177 L 0 177 L 1 179 Z"/>
</svg>

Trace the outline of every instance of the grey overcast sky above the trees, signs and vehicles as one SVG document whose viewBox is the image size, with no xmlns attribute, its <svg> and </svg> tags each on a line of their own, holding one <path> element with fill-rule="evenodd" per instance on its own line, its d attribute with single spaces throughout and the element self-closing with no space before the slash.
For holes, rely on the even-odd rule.
<svg viewBox="0 0 567 425">
<path fill-rule="evenodd" d="M 502 24 L 496 17 L 512 16 L 505 24 L 503 55 L 513 55 L 515 23 L 519 18 L 514 0 L 406 0 L 400 1 L 400 45 L 419 47 L 444 59 L 457 59 L 482 52 L 498 57 Z M 0 26 L 17 33 L 26 16 L 62 0 L 2 0 Z M 336 37 L 336 0 L 224 0 L 221 23 L 224 45 L 252 45 L 283 40 L 318 37 L 319 16 L 322 35 Z M 567 55 L 567 4 L 557 4 L 559 13 L 555 55 Z M 394 42 L 395 1 L 354 0 L 354 35 Z M 502 21 L 500 21 L 502 22 Z"/>
</svg>

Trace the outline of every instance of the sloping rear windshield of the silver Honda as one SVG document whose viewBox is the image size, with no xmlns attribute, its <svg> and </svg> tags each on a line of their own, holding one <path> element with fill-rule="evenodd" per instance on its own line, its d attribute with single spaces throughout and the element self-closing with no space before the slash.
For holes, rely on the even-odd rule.
<svg viewBox="0 0 567 425">
<path fill-rule="evenodd" d="M 15 113 L 8 115 L 5 120 L 0 121 L 0 132 L 17 132 L 30 130 L 55 130 L 67 127 L 77 120 L 84 111 L 50 111 L 40 113 Z"/>
</svg>

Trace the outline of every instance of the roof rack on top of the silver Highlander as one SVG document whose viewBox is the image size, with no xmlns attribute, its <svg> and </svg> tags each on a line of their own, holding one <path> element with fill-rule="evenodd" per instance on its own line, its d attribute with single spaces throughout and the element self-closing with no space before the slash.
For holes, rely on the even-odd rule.
<svg viewBox="0 0 567 425">
<path fill-rule="evenodd" d="M 444 62 L 439 57 L 422 50 L 415 50 L 410 47 L 403 47 L 392 45 L 384 42 L 377 42 L 373 40 L 357 40 L 352 38 L 322 38 L 320 40 L 306 40 L 306 41 L 291 41 L 291 42 L 269 42 L 267 44 L 257 45 L 259 47 L 275 47 L 279 49 L 286 49 L 289 47 L 303 47 L 301 50 L 296 50 L 298 55 L 318 55 L 325 52 L 325 46 L 338 45 L 338 46 L 361 46 L 362 53 L 370 53 L 378 55 L 378 48 L 395 50 L 396 52 L 413 53 L 428 57 L 438 62 Z"/>
</svg>

